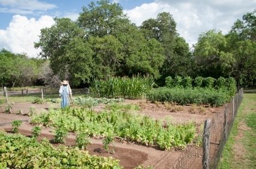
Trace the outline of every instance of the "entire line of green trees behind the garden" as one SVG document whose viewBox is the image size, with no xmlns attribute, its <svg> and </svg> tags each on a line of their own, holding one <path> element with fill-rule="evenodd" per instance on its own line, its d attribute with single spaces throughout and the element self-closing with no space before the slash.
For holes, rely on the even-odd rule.
<svg viewBox="0 0 256 169">
<path fill-rule="evenodd" d="M 93 79 L 135 75 L 153 77 L 158 86 L 170 76 L 234 77 L 237 86 L 256 84 L 256 11 L 237 20 L 227 35 L 203 32 L 190 49 L 170 13 L 136 26 L 118 3 L 91 2 L 73 22 L 55 18 L 41 29 L 40 58 L 1 50 L 1 85 L 27 86 L 38 80 L 58 86 L 88 86 Z M 17 64 L 19 63 L 19 64 Z"/>
</svg>

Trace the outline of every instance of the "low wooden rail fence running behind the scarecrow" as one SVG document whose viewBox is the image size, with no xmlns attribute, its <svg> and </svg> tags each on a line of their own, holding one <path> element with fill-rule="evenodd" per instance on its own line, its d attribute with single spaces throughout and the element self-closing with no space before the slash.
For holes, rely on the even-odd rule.
<svg viewBox="0 0 256 169">
<path fill-rule="evenodd" d="M 22 90 L 7 90 L 8 96 L 15 95 L 58 95 L 59 89 L 47 89 L 47 88 L 37 88 L 37 89 L 22 89 Z M 72 95 L 86 95 L 89 94 L 90 90 L 88 88 L 84 89 L 72 89 Z M 1 95 L 5 95 L 4 90 L 0 90 Z"/>
</svg>

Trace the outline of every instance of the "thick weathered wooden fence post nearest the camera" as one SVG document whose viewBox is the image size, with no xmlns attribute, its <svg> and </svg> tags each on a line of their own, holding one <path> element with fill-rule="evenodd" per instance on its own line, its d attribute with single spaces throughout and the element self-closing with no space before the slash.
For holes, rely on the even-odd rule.
<svg viewBox="0 0 256 169">
<path fill-rule="evenodd" d="M 203 168 L 210 168 L 210 119 L 204 122 L 204 135 L 203 135 Z"/>
</svg>

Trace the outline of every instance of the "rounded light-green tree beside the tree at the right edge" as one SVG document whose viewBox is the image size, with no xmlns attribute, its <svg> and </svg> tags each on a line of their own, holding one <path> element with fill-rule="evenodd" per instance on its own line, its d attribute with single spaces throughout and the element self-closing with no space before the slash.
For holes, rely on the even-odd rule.
<svg viewBox="0 0 256 169">
<path fill-rule="evenodd" d="M 227 52 L 227 39 L 221 31 L 212 29 L 200 34 L 198 43 L 194 45 L 193 53 L 198 76 L 227 77 L 231 65 L 236 62 L 233 55 Z"/>
</svg>

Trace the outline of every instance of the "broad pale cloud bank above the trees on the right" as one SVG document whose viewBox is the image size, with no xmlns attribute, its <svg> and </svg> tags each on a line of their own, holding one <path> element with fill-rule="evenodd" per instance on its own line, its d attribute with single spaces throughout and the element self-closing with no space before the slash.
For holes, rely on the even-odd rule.
<svg viewBox="0 0 256 169">
<path fill-rule="evenodd" d="M 169 12 L 177 23 L 177 32 L 191 47 L 197 43 L 201 33 L 210 29 L 221 30 L 227 34 L 237 19 L 242 19 L 243 14 L 254 11 L 255 7 L 255 0 L 155 0 L 132 10 L 124 10 L 124 13 L 139 26 L 144 20 L 156 18 L 162 12 Z"/>
</svg>

